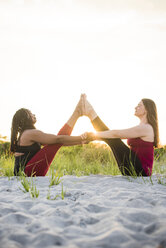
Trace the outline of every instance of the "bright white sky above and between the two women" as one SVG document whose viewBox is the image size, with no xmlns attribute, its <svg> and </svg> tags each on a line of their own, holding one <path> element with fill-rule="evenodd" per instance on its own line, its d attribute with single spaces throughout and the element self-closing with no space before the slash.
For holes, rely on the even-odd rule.
<svg viewBox="0 0 166 248">
<path fill-rule="evenodd" d="M 22 107 L 57 133 L 86 93 L 110 129 L 151 98 L 166 144 L 165 0 L 0 0 L 0 134 Z M 74 135 L 93 131 L 79 118 Z"/>
</svg>

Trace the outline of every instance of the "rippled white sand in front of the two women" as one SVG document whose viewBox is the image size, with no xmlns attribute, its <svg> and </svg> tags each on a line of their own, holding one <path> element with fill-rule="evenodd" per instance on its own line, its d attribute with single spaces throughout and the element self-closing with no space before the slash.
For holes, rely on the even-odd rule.
<svg viewBox="0 0 166 248">
<path fill-rule="evenodd" d="M 37 199 L 15 177 L 0 178 L 0 248 L 166 247 L 166 186 L 152 177 L 63 177 L 65 199 L 47 200 L 48 177 L 36 178 Z M 61 185 L 52 186 L 51 198 Z"/>
</svg>

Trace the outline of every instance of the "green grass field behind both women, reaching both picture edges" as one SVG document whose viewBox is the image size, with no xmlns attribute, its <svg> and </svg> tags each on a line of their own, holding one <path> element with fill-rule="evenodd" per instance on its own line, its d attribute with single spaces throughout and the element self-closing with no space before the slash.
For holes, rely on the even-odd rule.
<svg viewBox="0 0 166 248">
<path fill-rule="evenodd" d="M 1 154 L 0 176 L 13 176 L 14 157 Z M 55 173 L 55 174 L 54 174 Z M 166 174 L 166 149 L 155 152 L 153 173 Z M 50 185 L 60 182 L 63 175 L 120 175 L 110 148 L 103 143 L 61 147 L 53 160 L 48 176 Z"/>
</svg>

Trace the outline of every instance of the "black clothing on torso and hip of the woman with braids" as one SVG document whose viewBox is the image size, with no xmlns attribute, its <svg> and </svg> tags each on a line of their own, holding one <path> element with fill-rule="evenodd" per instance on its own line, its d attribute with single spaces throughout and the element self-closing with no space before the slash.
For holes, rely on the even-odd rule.
<svg viewBox="0 0 166 248">
<path fill-rule="evenodd" d="M 14 164 L 14 175 L 16 176 L 18 172 L 24 171 L 26 164 L 31 160 L 31 158 L 41 149 L 39 143 L 34 143 L 30 146 L 17 146 L 15 152 L 24 153 L 23 155 L 15 157 Z"/>
</svg>

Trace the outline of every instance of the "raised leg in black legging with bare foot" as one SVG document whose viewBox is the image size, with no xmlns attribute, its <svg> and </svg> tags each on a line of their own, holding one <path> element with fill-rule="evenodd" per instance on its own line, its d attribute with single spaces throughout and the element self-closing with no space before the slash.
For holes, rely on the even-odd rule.
<svg viewBox="0 0 166 248">
<path fill-rule="evenodd" d="M 97 116 L 92 105 L 86 100 L 85 95 L 84 105 L 82 108 L 84 114 L 90 118 L 91 123 L 96 131 L 109 130 L 109 128 Z M 129 147 L 125 145 L 121 139 L 104 139 L 104 141 L 110 146 L 122 175 L 130 176 L 132 175 L 134 169 L 137 175 L 142 174 L 143 176 L 146 176 L 141 162 L 136 154 L 131 149 L 129 149 Z"/>
</svg>

